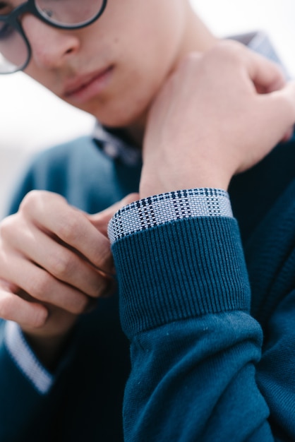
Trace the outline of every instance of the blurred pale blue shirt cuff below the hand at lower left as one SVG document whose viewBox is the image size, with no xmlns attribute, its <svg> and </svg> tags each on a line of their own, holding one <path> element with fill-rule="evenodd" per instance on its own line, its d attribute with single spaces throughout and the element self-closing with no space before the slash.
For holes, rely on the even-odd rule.
<svg viewBox="0 0 295 442">
<path fill-rule="evenodd" d="M 25 341 L 20 326 L 7 321 L 4 342 L 6 348 L 20 371 L 41 394 L 46 394 L 52 386 L 54 377 L 40 364 Z"/>
</svg>

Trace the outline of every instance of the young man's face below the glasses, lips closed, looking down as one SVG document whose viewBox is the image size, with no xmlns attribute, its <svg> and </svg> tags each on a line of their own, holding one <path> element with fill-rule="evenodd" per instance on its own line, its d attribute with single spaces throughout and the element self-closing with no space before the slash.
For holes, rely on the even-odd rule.
<svg viewBox="0 0 295 442">
<path fill-rule="evenodd" d="M 108 0 L 99 20 L 80 30 L 59 30 L 25 15 L 32 48 L 25 72 L 102 124 L 132 125 L 177 62 L 184 3 Z"/>
</svg>

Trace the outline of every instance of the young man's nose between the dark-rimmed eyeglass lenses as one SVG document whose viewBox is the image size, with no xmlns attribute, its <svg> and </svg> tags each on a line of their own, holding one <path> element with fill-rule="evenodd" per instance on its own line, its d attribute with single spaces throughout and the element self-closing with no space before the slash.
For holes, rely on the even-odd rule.
<svg viewBox="0 0 295 442">
<path fill-rule="evenodd" d="M 31 62 L 40 68 L 59 68 L 78 52 L 77 31 L 54 28 L 29 14 L 23 17 L 22 25 L 32 50 Z"/>
</svg>

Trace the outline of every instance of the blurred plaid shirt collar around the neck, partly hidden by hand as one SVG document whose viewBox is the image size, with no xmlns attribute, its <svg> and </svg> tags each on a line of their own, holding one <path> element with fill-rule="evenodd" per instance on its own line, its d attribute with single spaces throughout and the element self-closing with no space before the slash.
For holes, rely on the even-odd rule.
<svg viewBox="0 0 295 442">
<path fill-rule="evenodd" d="M 272 42 L 267 37 L 265 32 L 251 32 L 243 35 L 234 35 L 231 40 L 237 40 L 249 49 L 252 49 L 268 59 L 275 61 L 283 69 L 282 61 L 279 59 L 275 48 L 272 46 Z M 285 69 L 284 69 L 285 71 Z M 285 71 L 286 77 L 289 75 Z M 136 146 L 124 141 L 116 131 L 108 131 L 104 128 L 99 121 L 95 124 L 94 131 L 92 133 L 92 138 L 97 143 L 99 148 L 111 158 L 116 160 L 121 160 L 125 165 L 136 166 L 141 162 L 141 151 L 136 148 Z"/>
</svg>

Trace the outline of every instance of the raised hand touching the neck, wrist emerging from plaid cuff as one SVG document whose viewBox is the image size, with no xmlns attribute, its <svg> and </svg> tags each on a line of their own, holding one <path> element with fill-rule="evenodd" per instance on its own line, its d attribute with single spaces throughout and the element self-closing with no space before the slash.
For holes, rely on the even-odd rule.
<svg viewBox="0 0 295 442">
<path fill-rule="evenodd" d="M 191 54 L 152 104 L 140 197 L 217 187 L 255 165 L 295 122 L 295 85 L 237 42 Z"/>
</svg>

